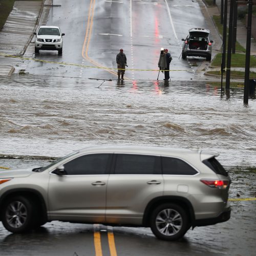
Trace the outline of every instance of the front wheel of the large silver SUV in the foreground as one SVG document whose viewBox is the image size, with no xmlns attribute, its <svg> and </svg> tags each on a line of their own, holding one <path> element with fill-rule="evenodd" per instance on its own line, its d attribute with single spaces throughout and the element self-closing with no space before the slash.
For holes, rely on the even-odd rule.
<svg viewBox="0 0 256 256">
<path fill-rule="evenodd" d="M 22 196 L 8 199 L 3 206 L 1 219 L 4 227 L 12 233 L 24 233 L 33 224 L 33 207 L 31 202 Z"/>
</svg>

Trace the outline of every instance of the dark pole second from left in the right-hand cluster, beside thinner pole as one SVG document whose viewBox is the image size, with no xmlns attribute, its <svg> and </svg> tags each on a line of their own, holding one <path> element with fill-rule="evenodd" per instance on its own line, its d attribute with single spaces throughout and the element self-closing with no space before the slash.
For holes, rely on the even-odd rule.
<svg viewBox="0 0 256 256">
<path fill-rule="evenodd" d="M 226 86 L 225 86 L 226 90 L 229 90 L 229 87 L 230 87 L 231 50 L 232 50 L 232 37 L 233 37 L 232 36 L 232 32 L 233 32 L 233 10 L 234 10 L 234 0 L 230 0 L 228 43 L 227 43 Z"/>
</svg>

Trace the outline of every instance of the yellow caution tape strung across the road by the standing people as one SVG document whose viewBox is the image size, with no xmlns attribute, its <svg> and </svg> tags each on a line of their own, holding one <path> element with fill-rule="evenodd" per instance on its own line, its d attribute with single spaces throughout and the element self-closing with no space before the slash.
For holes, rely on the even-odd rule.
<svg viewBox="0 0 256 256">
<path fill-rule="evenodd" d="M 95 67 L 95 66 L 86 66 L 86 65 L 80 65 L 76 63 L 70 63 L 70 62 L 57 62 L 57 61 L 48 61 L 43 59 L 36 59 L 36 58 L 28 58 L 28 57 L 22 57 L 22 56 L 15 56 L 10 54 L 4 54 L 0 53 L 1 56 L 4 57 L 10 57 L 10 58 L 19 58 L 19 59 L 26 59 L 26 60 L 33 60 L 33 61 L 39 61 L 39 62 L 46 62 L 46 63 L 54 63 L 54 64 L 60 64 L 60 65 L 68 65 L 68 66 L 77 66 L 82 68 L 94 68 L 94 69 L 105 69 L 105 70 L 132 70 L 132 71 L 159 71 L 159 69 L 116 69 L 116 68 L 107 68 L 107 67 Z M 160 71 L 190 71 L 190 70 L 179 70 L 179 69 L 170 69 L 170 70 L 160 70 Z"/>
</svg>

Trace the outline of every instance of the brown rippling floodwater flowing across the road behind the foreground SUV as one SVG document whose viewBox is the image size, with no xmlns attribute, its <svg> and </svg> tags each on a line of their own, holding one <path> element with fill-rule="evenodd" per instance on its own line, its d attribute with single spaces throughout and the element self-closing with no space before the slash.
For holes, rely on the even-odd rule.
<svg viewBox="0 0 256 256">
<path fill-rule="evenodd" d="M 64 156 L 92 144 L 151 144 L 219 152 L 256 165 L 256 99 L 206 81 L 1 77 L 0 154 Z"/>
</svg>

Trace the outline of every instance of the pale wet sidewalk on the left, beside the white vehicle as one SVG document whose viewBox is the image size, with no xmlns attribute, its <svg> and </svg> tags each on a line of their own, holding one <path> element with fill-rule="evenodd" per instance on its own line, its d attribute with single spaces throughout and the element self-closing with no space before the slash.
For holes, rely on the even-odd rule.
<svg viewBox="0 0 256 256">
<path fill-rule="evenodd" d="M 6 58 L 5 54 L 23 56 L 39 21 L 46 21 L 51 0 L 41 2 L 16 1 L 5 26 L 0 31 L 0 76 L 10 76 L 20 62 L 17 58 Z M 45 17 L 46 15 L 47 17 Z"/>
</svg>

